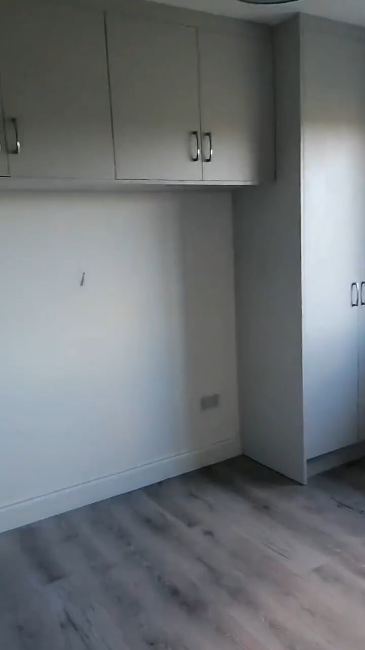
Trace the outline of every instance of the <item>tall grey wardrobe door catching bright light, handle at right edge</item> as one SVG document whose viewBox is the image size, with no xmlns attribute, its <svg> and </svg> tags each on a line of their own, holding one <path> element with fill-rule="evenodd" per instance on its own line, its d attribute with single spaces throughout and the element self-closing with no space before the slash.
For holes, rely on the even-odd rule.
<svg viewBox="0 0 365 650">
<path fill-rule="evenodd" d="M 303 382 L 307 457 L 358 440 L 365 45 L 308 32 L 303 66 Z M 365 279 L 365 278 L 364 278 Z M 356 302 L 357 291 L 353 292 Z M 365 307 L 364 307 L 365 309 Z"/>
</svg>

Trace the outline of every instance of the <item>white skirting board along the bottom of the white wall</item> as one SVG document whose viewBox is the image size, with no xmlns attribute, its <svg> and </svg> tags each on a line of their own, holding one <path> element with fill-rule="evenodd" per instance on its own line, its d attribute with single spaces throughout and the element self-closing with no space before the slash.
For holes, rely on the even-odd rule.
<svg viewBox="0 0 365 650">
<path fill-rule="evenodd" d="M 240 437 L 0 508 L 0 532 L 75 510 L 241 453 Z"/>
</svg>

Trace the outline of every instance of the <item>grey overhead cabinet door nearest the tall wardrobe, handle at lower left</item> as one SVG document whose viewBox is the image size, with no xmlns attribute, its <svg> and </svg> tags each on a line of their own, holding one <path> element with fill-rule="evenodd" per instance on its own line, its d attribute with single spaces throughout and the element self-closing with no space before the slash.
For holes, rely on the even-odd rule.
<svg viewBox="0 0 365 650">
<path fill-rule="evenodd" d="M 205 181 L 260 183 L 274 176 L 273 70 L 266 29 L 199 31 Z"/>
</svg>

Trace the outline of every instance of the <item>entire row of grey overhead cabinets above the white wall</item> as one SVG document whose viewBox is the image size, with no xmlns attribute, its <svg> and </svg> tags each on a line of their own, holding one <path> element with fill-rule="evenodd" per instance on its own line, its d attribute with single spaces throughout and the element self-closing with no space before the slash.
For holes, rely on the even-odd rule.
<svg viewBox="0 0 365 650">
<path fill-rule="evenodd" d="M 1 176 L 273 180 L 270 28 L 156 12 L 1 3 Z"/>
</svg>

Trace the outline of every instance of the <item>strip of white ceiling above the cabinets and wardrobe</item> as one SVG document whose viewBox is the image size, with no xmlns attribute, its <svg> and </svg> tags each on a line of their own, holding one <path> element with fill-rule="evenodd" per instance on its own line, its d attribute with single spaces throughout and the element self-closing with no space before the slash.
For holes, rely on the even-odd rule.
<svg viewBox="0 0 365 650">
<path fill-rule="evenodd" d="M 365 0 L 299 0 L 286 5 L 255 6 L 238 0 L 152 0 L 221 16 L 277 23 L 296 12 L 365 26 Z"/>
</svg>

